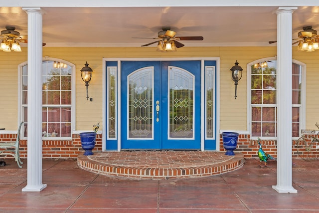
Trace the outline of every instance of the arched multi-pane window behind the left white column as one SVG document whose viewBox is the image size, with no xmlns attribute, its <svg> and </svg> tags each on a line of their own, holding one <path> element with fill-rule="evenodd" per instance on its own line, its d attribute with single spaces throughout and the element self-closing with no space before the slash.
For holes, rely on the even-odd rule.
<svg viewBox="0 0 319 213">
<path fill-rule="evenodd" d="M 71 138 L 74 123 L 75 66 L 65 61 L 42 61 L 43 139 Z M 21 118 L 27 124 L 27 64 L 21 65 Z M 27 125 L 23 131 L 27 137 Z"/>
</svg>

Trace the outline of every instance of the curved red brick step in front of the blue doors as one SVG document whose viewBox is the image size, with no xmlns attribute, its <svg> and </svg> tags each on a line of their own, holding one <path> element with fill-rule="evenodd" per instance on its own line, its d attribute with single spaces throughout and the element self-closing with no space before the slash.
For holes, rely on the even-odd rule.
<svg viewBox="0 0 319 213">
<path fill-rule="evenodd" d="M 132 179 L 180 179 L 213 176 L 239 169 L 244 155 L 201 151 L 96 152 L 77 157 L 80 168 L 107 176 Z"/>
</svg>

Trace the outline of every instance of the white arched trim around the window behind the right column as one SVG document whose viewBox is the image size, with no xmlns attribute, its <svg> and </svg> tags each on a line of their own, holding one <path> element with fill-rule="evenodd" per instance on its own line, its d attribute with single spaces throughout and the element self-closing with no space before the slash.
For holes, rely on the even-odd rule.
<svg viewBox="0 0 319 213">
<path fill-rule="evenodd" d="M 247 130 L 252 135 L 251 132 L 251 66 L 255 63 L 259 63 L 261 61 L 267 60 L 277 60 L 277 57 L 267 57 L 267 58 L 260 58 L 258 60 L 252 61 L 247 64 Z M 302 66 L 302 92 L 301 92 L 301 107 L 300 107 L 300 126 L 299 130 L 306 128 L 306 73 L 307 73 L 307 65 L 301 61 L 293 59 L 293 63 L 299 64 Z M 276 106 L 278 103 L 276 104 Z M 293 106 L 292 106 L 293 107 Z M 278 128 L 278 127 L 277 127 Z M 251 139 L 257 139 L 257 137 L 250 137 Z M 269 139 L 269 140 L 276 140 L 277 137 L 260 137 L 261 139 Z M 293 139 L 298 139 L 298 137 L 293 137 Z"/>
</svg>

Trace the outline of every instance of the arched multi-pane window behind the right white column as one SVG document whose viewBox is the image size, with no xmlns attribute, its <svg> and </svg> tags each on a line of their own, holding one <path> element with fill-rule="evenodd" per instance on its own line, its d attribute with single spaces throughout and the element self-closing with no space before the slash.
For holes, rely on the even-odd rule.
<svg viewBox="0 0 319 213">
<path fill-rule="evenodd" d="M 292 136 L 304 127 L 305 65 L 294 60 L 292 70 Z M 277 138 L 277 60 L 260 60 L 248 65 L 250 88 L 249 128 L 252 139 Z"/>
</svg>

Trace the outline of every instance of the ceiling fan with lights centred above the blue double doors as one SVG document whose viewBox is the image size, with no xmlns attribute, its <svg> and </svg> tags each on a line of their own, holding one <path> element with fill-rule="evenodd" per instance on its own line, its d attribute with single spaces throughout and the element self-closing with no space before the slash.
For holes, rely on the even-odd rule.
<svg viewBox="0 0 319 213">
<path fill-rule="evenodd" d="M 180 43 L 180 40 L 192 40 L 192 41 L 200 41 L 203 40 L 203 36 L 177 36 L 175 37 L 176 32 L 170 30 L 170 27 L 163 27 L 162 31 L 158 32 L 157 41 L 153 41 L 151 43 L 144 44 L 142 46 L 149 46 L 154 43 L 158 43 L 158 51 L 167 52 L 167 51 L 176 51 L 176 48 L 183 47 L 184 44 Z M 133 37 L 133 38 L 145 38 L 145 37 Z"/>
</svg>

